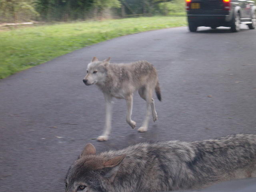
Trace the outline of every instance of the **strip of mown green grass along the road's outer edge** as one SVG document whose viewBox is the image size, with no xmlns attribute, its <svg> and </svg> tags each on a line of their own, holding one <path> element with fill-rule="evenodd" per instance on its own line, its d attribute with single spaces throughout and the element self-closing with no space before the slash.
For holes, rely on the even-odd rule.
<svg viewBox="0 0 256 192">
<path fill-rule="evenodd" d="M 111 38 L 185 25 L 182 16 L 155 16 L 0 31 L 0 78 Z"/>
</svg>

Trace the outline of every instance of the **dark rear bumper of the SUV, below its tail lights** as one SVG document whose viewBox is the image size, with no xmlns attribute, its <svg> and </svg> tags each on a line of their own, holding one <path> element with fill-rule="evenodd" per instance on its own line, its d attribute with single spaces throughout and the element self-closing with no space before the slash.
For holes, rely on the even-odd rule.
<svg viewBox="0 0 256 192">
<path fill-rule="evenodd" d="M 231 11 L 187 11 L 188 22 L 197 26 L 230 26 Z"/>
</svg>

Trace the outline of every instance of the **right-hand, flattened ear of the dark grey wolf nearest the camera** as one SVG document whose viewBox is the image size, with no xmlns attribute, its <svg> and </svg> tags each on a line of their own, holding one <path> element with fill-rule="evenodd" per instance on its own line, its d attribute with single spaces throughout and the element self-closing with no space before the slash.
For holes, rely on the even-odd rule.
<svg viewBox="0 0 256 192">
<path fill-rule="evenodd" d="M 114 178 L 116 176 L 116 173 L 118 172 L 118 169 L 120 167 L 120 164 L 122 160 L 125 158 L 126 154 L 122 154 L 120 156 L 114 157 L 106 162 L 104 162 L 102 169 L 102 175 L 104 178 L 108 178 L 111 180 L 111 182 L 114 181 Z"/>
</svg>

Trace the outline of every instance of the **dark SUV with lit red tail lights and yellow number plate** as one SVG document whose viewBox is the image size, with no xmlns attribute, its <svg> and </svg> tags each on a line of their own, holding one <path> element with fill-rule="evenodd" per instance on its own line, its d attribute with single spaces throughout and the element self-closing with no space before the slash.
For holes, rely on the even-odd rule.
<svg viewBox="0 0 256 192">
<path fill-rule="evenodd" d="M 238 32 L 241 23 L 256 28 L 256 6 L 250 0 L 186 0 L 186 12 L 191 32 L 198 26 L 225 26 Z"/>
</svg>

